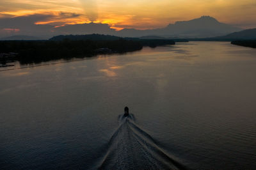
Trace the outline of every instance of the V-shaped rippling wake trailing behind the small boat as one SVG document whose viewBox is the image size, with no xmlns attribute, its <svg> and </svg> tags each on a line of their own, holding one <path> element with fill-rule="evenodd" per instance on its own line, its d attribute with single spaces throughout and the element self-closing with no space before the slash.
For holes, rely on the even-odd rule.
<svg viewBox="0 0 256 170">
<path fill-rule="evenodd" d="M 164 153 L 134 120 L 132 114 L 119 116 L 119 127 L 109 140 L 99 169 L 186 169 Z"/>
</svg>

